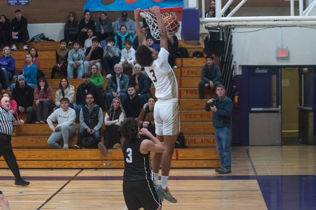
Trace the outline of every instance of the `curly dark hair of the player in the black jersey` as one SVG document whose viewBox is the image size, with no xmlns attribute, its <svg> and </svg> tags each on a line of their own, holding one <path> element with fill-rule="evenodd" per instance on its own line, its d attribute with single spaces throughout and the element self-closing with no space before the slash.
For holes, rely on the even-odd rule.
<svg viewBox="0 0 316 210">
<path fill-rule="evenodd" d="M 120 125 L 119 131 L 126 140 L 136 139 L 138 134 L 138 122 L 132 117 L 126 118 Z"/>
</svg>

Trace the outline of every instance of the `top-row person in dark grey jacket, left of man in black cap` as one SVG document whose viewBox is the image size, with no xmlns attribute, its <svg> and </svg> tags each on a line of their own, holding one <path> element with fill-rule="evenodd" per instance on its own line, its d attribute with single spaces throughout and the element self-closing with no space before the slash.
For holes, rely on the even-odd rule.
<svg viewBox="0 0 316 210">
<path fill-rule="evenodd" d="M 113 25 L 106 12 L 101 12 L 100 18 L 95 26 L 95 35 L 99 37 L 100 41 L 106 40 L 107 37 L 113 36 Z"/>
</svg>

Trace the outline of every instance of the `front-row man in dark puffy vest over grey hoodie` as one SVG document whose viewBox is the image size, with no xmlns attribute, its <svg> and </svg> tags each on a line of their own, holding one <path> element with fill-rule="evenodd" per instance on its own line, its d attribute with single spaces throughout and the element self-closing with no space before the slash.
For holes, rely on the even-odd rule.
<svg viewBox="0 0 316 210">
<path fill-rule="evenodd" d="M 103 122 L 102 109 L 94 103 L 92 94 L 86 96 L 87 104 L 82 106 L 80 110 L 80 128 L 78 131 L 78 141 L 74 146 L 75 149 L 82 147 L 82 139 L 89 136 L 95 141 L 95 148 L 100 142 L 101 126 Z"/>
</svg>

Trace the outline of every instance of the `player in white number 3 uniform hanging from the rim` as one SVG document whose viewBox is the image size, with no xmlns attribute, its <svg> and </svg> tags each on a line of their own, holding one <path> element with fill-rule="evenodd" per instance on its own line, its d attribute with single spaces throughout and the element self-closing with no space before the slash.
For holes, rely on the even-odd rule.
<svg viewBox="0 0 316 210">
<path fill-rule="evenodd" d="M 155 153 L 152 162 L 153 181 L 157 186 L 158 194 L 170 202 L 177 202 L 168 189 L 168 176 L 173 155 L 174 144 L 179 132 L 179 104 L 178 84 L 171 66 L 168 63 L 168 37 L 167 29 L 160 15 L 160 7 L 149 8 L 155 14 L 160 33 L 160 52 L 149 48 L 145 35 L 141 32 L 139 23 L 140 9 L 134 10 L 139 47 L 136 52 L 138 64 L 145 67 L 150 79 L 153 81 L 158 101 L 155 103 L 154 119 L 157 139 L 164 142 L 166 150 Z M 161 185 L 158 185 L 158 173 L 161 165 Z"/>
</svg>

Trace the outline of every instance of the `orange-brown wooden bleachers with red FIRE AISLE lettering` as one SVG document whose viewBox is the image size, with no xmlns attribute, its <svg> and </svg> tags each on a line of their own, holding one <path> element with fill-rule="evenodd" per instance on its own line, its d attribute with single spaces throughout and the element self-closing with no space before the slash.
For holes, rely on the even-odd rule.
<svg viewBox="0 0 316 210">
<path fill-rule="evenodd" d="M 185 45 L 179 40 L 179 45 L 188 49 L 189 54 L 199 50 L 203 52 L 203 46 Z M 35 46 L 41 60 L 42 71 L 45 73 L 49 85 L 54 93 L 58 89 L 60 78 L 49 79 L 52 66 L 55 65 L 55 49 L 59 42 L 28 43 L 28 47 Z M 16 72 L 21 69 L 26 51 L 21 51 L 22 46 L 17 45 L 18 50 L 13 52 L 16 60 Z M 212 112 L 204 111 L 207 99 L 198 99 L 197 84 L 201 78 L 202 66 L 205 58 L 177 59 L 177 68 L 173 71 L 179 85 L 180 130 L 185 134 L 185 145 L 188 149 L 175 150 L 172 167 L 219 167 L 220 161 L 215 149 L 214 127 L 212 126 Z M 56 74 L 56 77 L 61 75 Z M 104 90 L 108 79 L 104 78 Z M 77 88 L 81 79 L 70 79 L 70 84 Z M 155 94 L 155 89 L 151 89 Z M 1 94 L 0 94 L 1 95 Z M 206 97 L 215 96 L 214 92 L 206 90 Z M 105 114 L 105 112 L 104 112 Z M 23 118 L 23 114 L 21 114 Z M 25 116 L 24 116 L 25 117 Z M 80 125 L 77 124 L 77 130 Z M 105 126 L 103 124 L 101 131 Z M 47 145 L 47 139 L 52 131 L 48 125 L 19 125 L 16 126 L 17 137 L 12 137 L 12 146 L 18 164 L 21 168 L 122 168 L 124 161 L 119 150 L 110 150 L 109 154 L 102 155 L 97 149 L 89 150 L 52 150 Z M 69 139 L 70 148 L 76 144 L 77 137 Z M 101 137 L 103 140 L 103 135 Z M 121 139 L 123 141 L 124 139 Z M 60 142 L 63 144 L 63 142 Z M 0 168 L 7 168 L 3 158 L 0 158 Z"/>
</svg>

